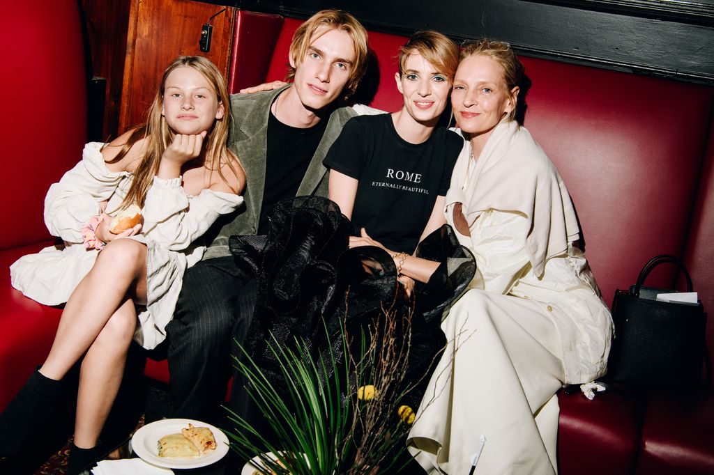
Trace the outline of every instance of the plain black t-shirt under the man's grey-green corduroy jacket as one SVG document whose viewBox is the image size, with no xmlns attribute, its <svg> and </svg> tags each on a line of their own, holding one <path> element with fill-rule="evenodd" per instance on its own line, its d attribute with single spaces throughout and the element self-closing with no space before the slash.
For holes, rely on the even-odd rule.
<svg viewBox="0 0 714 475">
<path fill-rule="evenodd" d="M 275 203 L 293 198 L 320 145 L 327 119 L 309 128 L 286 126 L 270 113 L 268 117 L 266 181 L 263 189 L 258 234 L 267 233 L 268 211 Z"/>
</svg>

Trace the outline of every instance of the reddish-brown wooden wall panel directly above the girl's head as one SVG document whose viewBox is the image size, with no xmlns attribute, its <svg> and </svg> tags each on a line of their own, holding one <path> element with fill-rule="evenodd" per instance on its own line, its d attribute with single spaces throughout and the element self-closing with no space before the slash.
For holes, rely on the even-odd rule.
<svg viewBox="0 0 714 475">
<path fill-rule="evenodd" d="M 203 53 L 198 48 L 201 26 L 214 14 L 211 50 Z M 176 56 L 206 56 L 225 75 L 234 18 L 230 7 L 197 1 L 131 0 L 119 132 L 146 120 L 161 73 Z"/>
</svg>

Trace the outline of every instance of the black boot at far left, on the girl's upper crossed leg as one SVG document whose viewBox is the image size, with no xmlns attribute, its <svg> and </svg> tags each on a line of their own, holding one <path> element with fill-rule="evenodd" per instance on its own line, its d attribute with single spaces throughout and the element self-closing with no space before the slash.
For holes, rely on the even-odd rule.
<svg viewBox="0 0 714 475">
<path fill-rule="evenodd" d="M 35 370 L 0 414 L 0 456 L 15 454 L 32 431 L 52 414 L 60 384 Z"/>
</svg>

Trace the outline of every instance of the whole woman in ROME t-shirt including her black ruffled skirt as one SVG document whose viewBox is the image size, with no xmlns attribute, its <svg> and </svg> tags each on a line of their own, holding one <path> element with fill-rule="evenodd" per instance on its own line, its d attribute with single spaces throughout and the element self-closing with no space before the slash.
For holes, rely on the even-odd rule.
<svg viewBox="0 0 714 475">
<path fill-rule="evenodd" d="M 363 362 L 371 356 L 362 345 L 393 348 L 374 363 L 388 365 L 389 377 L 380 379 L 374 370 L 370 377 L 377 380 L 363 382 L 380 387 L 384 407 L 393 405 L 411 424 L 408 414 L 421 402 L 446 345 L 439 328 L 443 309 L 466 290 L 476 267 L 443 217 L 463 139 L 437 123 L 449 101 L 458 47 L 422 31 L 403 46 L 399 65 L 401 110 L 351 119 L 323 162 L 331 168 L 333 201 L 300 196 L 278 202 L 268 213 L 266 239 L 232 238 L 231 251 L 253 268 L 258 287 L 243 350 L 278 392 L 288 385 L 268 340 L 278 348 L 306 342 L 316 358 L 338 365 L 338 376 L 346 371 L 342 352 Z M 361 234 L 349 237 L 350 249 L 353 230 L 340 212 Z M 398 282 L 411 298 L 402 298 Z M 253 407 L 260 404 L 246 389 L 247 379 L 236 375 L 231 407 L 270 439 L 272 429 Z M 357 388 L 348 384 L 344 391 L 356 394 Z"/>
</svg>

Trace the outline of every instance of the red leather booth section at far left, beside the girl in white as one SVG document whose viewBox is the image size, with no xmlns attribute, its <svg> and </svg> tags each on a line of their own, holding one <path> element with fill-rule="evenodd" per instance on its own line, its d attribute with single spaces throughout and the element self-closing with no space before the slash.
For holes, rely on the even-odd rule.
<svg viewBox="0 0 714 475">
<path fill-rule="evenodd" d="M 6 45 L 0 90 L 5 183 L 0 187 L 0 409 L 49 352 L 61 312 L 10 285 L 9 266 L 51 245 L 42 220 L 44 195 L 81 158 L 86 142 L 86 76 L 79 5 L 41 8 L 5 2 L 0 41 Z"/>
</svg>

